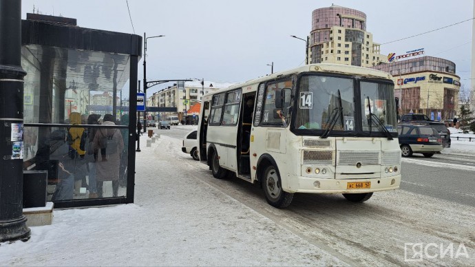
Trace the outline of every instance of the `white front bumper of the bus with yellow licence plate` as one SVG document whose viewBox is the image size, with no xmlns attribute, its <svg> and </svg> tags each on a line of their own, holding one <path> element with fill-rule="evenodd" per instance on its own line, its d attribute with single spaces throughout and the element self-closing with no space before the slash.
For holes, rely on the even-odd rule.
<svg viewBox="0 0 475 267">
<path fill-rule="evenodd" d="M 299 176 L 298 180 L 299 188 L 290 190 L 291 193 L 369 193 L 399 189 L 401 175 L 368 179 L 315 179 Z M 367 188 L 359 188 L 361 185 Z"/>
</svg>

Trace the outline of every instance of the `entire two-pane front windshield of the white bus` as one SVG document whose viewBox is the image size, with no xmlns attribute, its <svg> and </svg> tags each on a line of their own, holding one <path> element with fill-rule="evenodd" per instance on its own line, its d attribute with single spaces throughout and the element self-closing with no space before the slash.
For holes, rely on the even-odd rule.
<svg viewBox="0 0 475 267">
<path fill-rule="evenodd" d="M 359 99 L 355 97 L 355 86 L 359 89 Z M 331 130 L 344 136 L 396 133 L 394 85 L 390 83 L 371 80 L 355 83 L 352 77 L 305 75 L 300 78 L 296 98 L 297 131 L 317 130 L 319 134 Z M 361 116 L 357 116 L 358 112 Z M 333 120 L 336 122 L 330 125 Z"/>
</svg>

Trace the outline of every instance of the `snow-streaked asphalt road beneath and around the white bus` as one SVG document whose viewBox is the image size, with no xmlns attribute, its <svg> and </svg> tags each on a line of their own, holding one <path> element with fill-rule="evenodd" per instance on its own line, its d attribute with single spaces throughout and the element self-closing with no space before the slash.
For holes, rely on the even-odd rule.
<svg viewBox="0 0 475 267">
<path fill-rule="evenodd" d="M 173 128 L 160 130 L 167 136 L 160 146 L 175 151 L 163 160 L 179 161 L 180 177 L 196 186 L 217 189 L 255 216 L 268 218 L 273 227 L 290 231 L 350 266 L 467 266 L 475 262 L 475 208 L 469 192 L 473 188 L 469 169 L 474 167 L 469 158 L 404 159 L 402 190 L 374 193 L 364 203 L 348 202 L 341 194 L 295 194 L 287 209 L 275 209 L 266 203 L 257 184 L 233 177 L 215 179 L 205 164 L 185 156 L 181 138 L 193 128 Z M 445 167 L 437 166 L 443 162 Z M 414 255 L 406 250 L 410 244 L 427 248 L 423 261 L 408 261 Z M 451 244 L 454 250 L 462 244 L 467 257 L 427 257 L 436 255 L 439 246 Z"/>
</svg>

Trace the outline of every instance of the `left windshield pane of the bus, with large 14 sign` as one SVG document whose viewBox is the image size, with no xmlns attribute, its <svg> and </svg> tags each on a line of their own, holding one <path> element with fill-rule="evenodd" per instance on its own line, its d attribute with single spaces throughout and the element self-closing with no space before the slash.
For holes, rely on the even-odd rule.
<svg viewBox="0 0 475 267">
<path fill-rule="evenodd" d="M 330 121 L 337 118 L 332 131 L 355 131 L 353 92 L 352 78 L 302 76 L 297 94 L 295 128 L 326 130 Z"/>
</svg>

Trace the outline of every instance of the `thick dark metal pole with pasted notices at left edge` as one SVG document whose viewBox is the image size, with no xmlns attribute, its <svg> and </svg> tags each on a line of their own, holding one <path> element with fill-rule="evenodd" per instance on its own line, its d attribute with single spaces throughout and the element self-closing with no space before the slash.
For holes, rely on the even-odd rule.
<svg viewBox="0 0 475 267">
<path fill-rule="evenodd" d="M 0 1 L 0 36 L 0 242 L 26 241 L 31 231 L 23 215 L 21 1 Z"/>
</svg>

